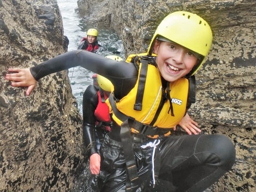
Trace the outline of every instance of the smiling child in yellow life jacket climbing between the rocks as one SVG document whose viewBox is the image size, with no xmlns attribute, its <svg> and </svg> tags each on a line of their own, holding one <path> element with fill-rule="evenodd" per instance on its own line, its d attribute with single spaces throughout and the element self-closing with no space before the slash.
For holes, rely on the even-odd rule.
<svg viewBox="0 0 256 192">
<path fill-rule="evenodd" d="M 157 27 L 147 53 L 114 61 L 88 51 L 69 51 L 31 68 L 11 68 L 5 79 L 28 86 L 44 76 L 82 66 L 113 84 L 106 103 L 113 125 L 100 148 L 100 191 L 200 192 L 235 163 L 234 143 L 221 134 L 198 134 L 184 126 L 195 103 L 195 74 L 212 44 L 209 24 L 177 11 Z M 93 65 L 91 65 L 93 63 Z M 200 103 L 196 103 L 200 105 Z"/>
</svg>

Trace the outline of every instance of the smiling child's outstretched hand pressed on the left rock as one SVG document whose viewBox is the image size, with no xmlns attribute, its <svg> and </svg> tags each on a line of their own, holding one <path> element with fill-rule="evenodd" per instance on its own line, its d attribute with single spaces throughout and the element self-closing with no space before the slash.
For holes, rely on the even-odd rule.
<svg viewBox="0 0 256 192">
<path fill-rule="evenodd" d="M 28 86 L 26 95 L 29 95 L 36 85 L 36 80 L 30 73 L 29 68 L 19 69 L 19 68 L 9 68 L 11 74 L 6 74 L 5 79 L 12 82 L 12 86 Z"/>
</svg>

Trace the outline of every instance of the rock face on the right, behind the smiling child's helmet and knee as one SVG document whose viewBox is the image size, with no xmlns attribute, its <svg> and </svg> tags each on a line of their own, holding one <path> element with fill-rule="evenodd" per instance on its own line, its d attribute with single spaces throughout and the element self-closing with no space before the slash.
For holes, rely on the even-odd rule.
<svg viewBox="0 0 256 192">
<path fill-rule="evenodd" d="M 125 55 L 146 52 L 159 22 L 174 11 L 201 15 L 213 45 L 198 71 L 197 102 L 189 110 L 205 134 L 225 134 L 236 146 L 236 164 L 213 191 L 255 191 L 256 2 L 175 0 L 78 0 L 82 17 L 95 27 L 115 29 Z M 101 12 L 99 10 L 104 10 Z"/>
</svg>

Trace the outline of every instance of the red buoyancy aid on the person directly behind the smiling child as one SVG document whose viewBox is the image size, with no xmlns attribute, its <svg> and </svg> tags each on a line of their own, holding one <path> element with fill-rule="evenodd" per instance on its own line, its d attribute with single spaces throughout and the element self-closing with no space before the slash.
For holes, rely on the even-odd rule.
<svg viewBox="0 0 256 192">
<path fill-rule="evenodd" d="M 94 116 L 97 119 L 96 125 L 98 125 L 99 122 L 107 122 L 109 125 L 109 123 L 111 123 L 111 119 L 109 115 L 109 107 L 107 103 L 101 101 L 100 91 L 98 91 L 97 94 L 98 94 L 99 102 L 98 102 L 97 108 L 94 111 Z M 108 96 L 105 93 L 103 94 L 104 94 L 105 100 L 108 99 Z M 104 127 L 106 131 L 110 131 L 110 126 L 108 125 Z"/>
</svg>

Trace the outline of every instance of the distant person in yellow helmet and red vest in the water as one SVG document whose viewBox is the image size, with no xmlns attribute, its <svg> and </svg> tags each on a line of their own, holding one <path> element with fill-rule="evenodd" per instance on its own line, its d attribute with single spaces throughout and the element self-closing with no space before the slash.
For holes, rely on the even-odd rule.
<svg viewBox="0 0 256 192">
<path fill-rule="evenodd" d="M 89 29 L 87 36 L 81 40 L 78 50 L 86 50 L 95 53 L 101 45 L 97 41 L 98 31 L 96 29 Z"/>
</svg>

